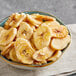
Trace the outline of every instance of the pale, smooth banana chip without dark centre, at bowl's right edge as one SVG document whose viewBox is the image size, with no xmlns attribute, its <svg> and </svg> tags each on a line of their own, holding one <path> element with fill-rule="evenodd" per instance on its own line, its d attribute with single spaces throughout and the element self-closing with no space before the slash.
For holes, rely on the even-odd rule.
<svg viewBox="0 0 76 76">
<path fill-rule="evenodd" d="M 51 41 L 51 47 L 56 50 L 62 50 L 68 45 L 68 43 L 70 43 L 70 41 L 71 41 L 71 38 L 69 35 L 67 35 L 67 37 L 65 37 L 63 39 L 54 38 Z"/>
</svg>

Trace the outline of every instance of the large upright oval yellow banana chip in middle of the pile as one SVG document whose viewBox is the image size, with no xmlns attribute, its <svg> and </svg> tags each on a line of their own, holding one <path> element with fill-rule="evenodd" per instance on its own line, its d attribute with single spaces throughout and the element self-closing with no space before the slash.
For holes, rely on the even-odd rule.
<svg viewBox="0 0 76 76">
<path fill-rule="evenodd" d="M 51 29 L 48 26 L 40 26 L 33 34 L 34 44 L 37 49 L 49 45 L 51 39 Z"/>
</svg>

